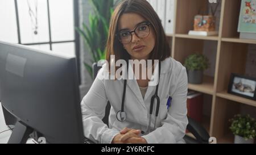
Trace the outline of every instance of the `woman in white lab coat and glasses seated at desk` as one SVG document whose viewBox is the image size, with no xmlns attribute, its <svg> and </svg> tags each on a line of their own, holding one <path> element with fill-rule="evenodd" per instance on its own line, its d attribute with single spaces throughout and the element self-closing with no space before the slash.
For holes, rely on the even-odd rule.
<svg viewBox="0 0 256 155">
<path fill-rule="evenodd" d="M 188 124 L 187 72 L 180 62 L 170 57 L 162 23 L 150 3 L 146 0 L 119 3 L 110 21 L 106 50 L 109 64 L 111 55 L 115 56 L 115 61 L 159 60 L 159 65 L 146 68 L 152 68 L 156 75 L 160 70 L 160 80 L 158 86 L 148 85 L 152 78 L 141 78 L 142 69 L 134 80 L 102 79 L 102 73 L 109 72 L 107 66 L 102 66 L 81 102 L 85 137 L 96 143 L 183 142 Z M 135 70 L 127 65 L 128 72 L 133 73 Z M 160 105 L 158 107 L 154 99 L 150 115 L 154 94 L 158 95 Z M 109 127 L 101 120 L 108 101 L 112 106 Z M 118 113 L 121 108 L 126 115 Z M 157 108 L 158 117 L 155 116 Z"/>
</svg>

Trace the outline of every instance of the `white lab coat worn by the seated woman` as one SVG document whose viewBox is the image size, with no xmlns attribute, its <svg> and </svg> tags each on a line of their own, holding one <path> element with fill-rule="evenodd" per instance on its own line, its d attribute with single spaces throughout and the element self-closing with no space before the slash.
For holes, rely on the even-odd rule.
<svg viewBox="0 0 256 155">
<path fill-rule="evenodd" d="M 162 61 L 158 95 L 160 97 L 159 116 L 155 131 L 141 135 L 148 144 L 182 143 L 187 119 L 187 72 L 180 62 L 169 57 Z M 100 79 L 106 66 L 99 71 L 88 94 L 82 99 L 82 121 L 84 135 L 96 143 L 111 143 L 114 136 L 123 128 L 141 129 L 147 131 L 150 111 L 150 100 L 156 86 L 148 86 L 144 99 L 137 81 L 127 80 L 125 111 L 127 120 L 119 122 L 116 113 L 121 110 L 123 80 Z M 156 68 L 158 70 L 158 68 Z M 129 67 L 131 72 L 131 67 Z M 158 72 L 155 72 L 158 73 Z M 167 110 L 168 97 L 172 97 L 170 110 Z M 102 122 L 105 106 L 108 100 L 112 106 L 109 115 L 109 127 Z M 156 104 L 155 104 L 156 105 Z M 154 128 L 155 107 L 151 117 L 151 127 Z"/>
</svg>

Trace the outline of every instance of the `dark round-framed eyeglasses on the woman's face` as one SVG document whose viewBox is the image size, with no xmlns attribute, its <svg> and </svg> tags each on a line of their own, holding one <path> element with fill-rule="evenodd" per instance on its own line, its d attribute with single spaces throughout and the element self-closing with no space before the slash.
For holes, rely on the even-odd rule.
<svg viewBox="0 0 256 155">
<path fill-rule="evenodd" d="M 139 38 L 146 38 L 150 34 L 149 26 L 150 26 L 150 23 L 145 22 L 137 26 L 134 31 L 120 31 L 117 34 L 118 40 L 122 44 L 131 43 L 131 40 L 133 40 L 133 34 L 132 34 L 133 32 Z"/>
</svg>

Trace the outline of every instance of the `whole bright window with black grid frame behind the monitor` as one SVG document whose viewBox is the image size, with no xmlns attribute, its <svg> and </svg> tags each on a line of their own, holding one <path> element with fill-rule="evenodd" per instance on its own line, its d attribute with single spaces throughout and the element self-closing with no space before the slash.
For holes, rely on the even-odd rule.
<svg viewBox="0 0 256 155">
<path fill-rule="evenodd" d="M 0 40 L 76 56 L 80 81 L 78 0 L 0 0 L 0 21 Z"/>
</svg>

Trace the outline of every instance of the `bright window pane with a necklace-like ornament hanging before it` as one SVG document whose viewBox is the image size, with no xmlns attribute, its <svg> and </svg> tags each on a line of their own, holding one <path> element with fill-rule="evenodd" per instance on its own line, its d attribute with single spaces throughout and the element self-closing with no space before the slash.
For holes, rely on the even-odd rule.
<svg viewBox="0 0 256 155">
<path fill-rule="evenodd" d="M 17 2 L 21 43 L 49 42 L 47 1 L 17 0 Z M 35 30 L 35 27 L 38 28 Z M 35 31 L 37 31 L 36 35 Z"/>
</svg>

